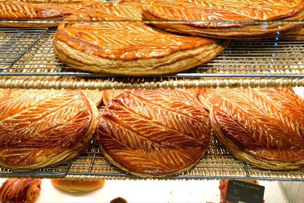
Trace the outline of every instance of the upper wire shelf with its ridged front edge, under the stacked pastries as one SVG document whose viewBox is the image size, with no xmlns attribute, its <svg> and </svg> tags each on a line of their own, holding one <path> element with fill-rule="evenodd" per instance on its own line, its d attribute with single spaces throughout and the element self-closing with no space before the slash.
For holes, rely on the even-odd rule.
<svg viewBox="0 0 304 203">
<path fill-rule="evenodd" d="M 33 87 L 33 80 L 40 81 L 37 88 L 44 88 L 42 84 L 67 88 L 62 83 L 65 81 L 68 88 L 89 89 L 126 88 L 126 85 L 139 88 L 146 82 L 156 87 L 165 83 L 194 87 L 208 82 L 213 86 L 220 83 L 304 85 L 304 42 L 284 42 L 280 41 L 280 36 L 271 40 L 232 41 L 213 60 L 184 73 L 126 77 L 79 72 L 65 66 L 52 48 L 55 32 L 55 28 L 0 28 L 1 85 Z"/>
</svg>

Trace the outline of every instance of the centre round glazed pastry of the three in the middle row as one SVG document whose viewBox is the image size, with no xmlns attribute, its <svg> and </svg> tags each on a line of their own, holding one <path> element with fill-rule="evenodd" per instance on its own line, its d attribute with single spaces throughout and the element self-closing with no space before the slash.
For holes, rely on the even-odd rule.
<svg viewBox="0 0 304 203">
<path fill-rule="evenodd" d="M 141 177 L 169 176 L 192 168 L 210 139 L 209 114 L 182 89 L 129 90 L 113 98 L 98 124 L 104 156 Z"/>
</svg>

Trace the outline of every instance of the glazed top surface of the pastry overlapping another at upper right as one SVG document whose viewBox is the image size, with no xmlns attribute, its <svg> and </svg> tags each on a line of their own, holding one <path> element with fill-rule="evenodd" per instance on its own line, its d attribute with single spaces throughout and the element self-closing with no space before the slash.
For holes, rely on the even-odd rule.
<svg viewBox="0 0 304 203">
<path fill-rule="evenodd" d="M 278 20 L 293 16 L 303 9 L 303 0 L 142 0 L 142 9 L 162 20 L 238 21 Z M 234 27 L 239 23 L 187 23 L 198 27 Z"/>
</svg>

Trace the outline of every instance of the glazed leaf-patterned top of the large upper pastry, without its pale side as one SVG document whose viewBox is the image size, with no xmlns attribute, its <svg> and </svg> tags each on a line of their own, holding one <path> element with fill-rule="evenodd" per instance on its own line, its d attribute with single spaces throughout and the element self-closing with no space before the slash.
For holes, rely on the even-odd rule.
<svg viewBox="0 0 304 203">
<path fill-rule="evenodd" d="M 73 49 L 108 59 L 130 61 L 161 58 L 215 42 L 175 35 L 141 22 L 139 1 L 114 1 L 88 6 L 65 20 L 106 20 L 60 23 L 55 39 Z"/>
</svg>

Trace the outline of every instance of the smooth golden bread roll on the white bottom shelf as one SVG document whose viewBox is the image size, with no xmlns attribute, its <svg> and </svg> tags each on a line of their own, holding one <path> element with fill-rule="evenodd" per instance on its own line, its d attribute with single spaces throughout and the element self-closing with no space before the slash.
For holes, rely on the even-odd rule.
<svg viewBox="0 0 304 203">
<path fill-rule="evenodd" d="M 105 180 L 62 180 L 52 179 L 51 183 L 66 192 L 90 192 L 103 187 Z"/>
</svg>

